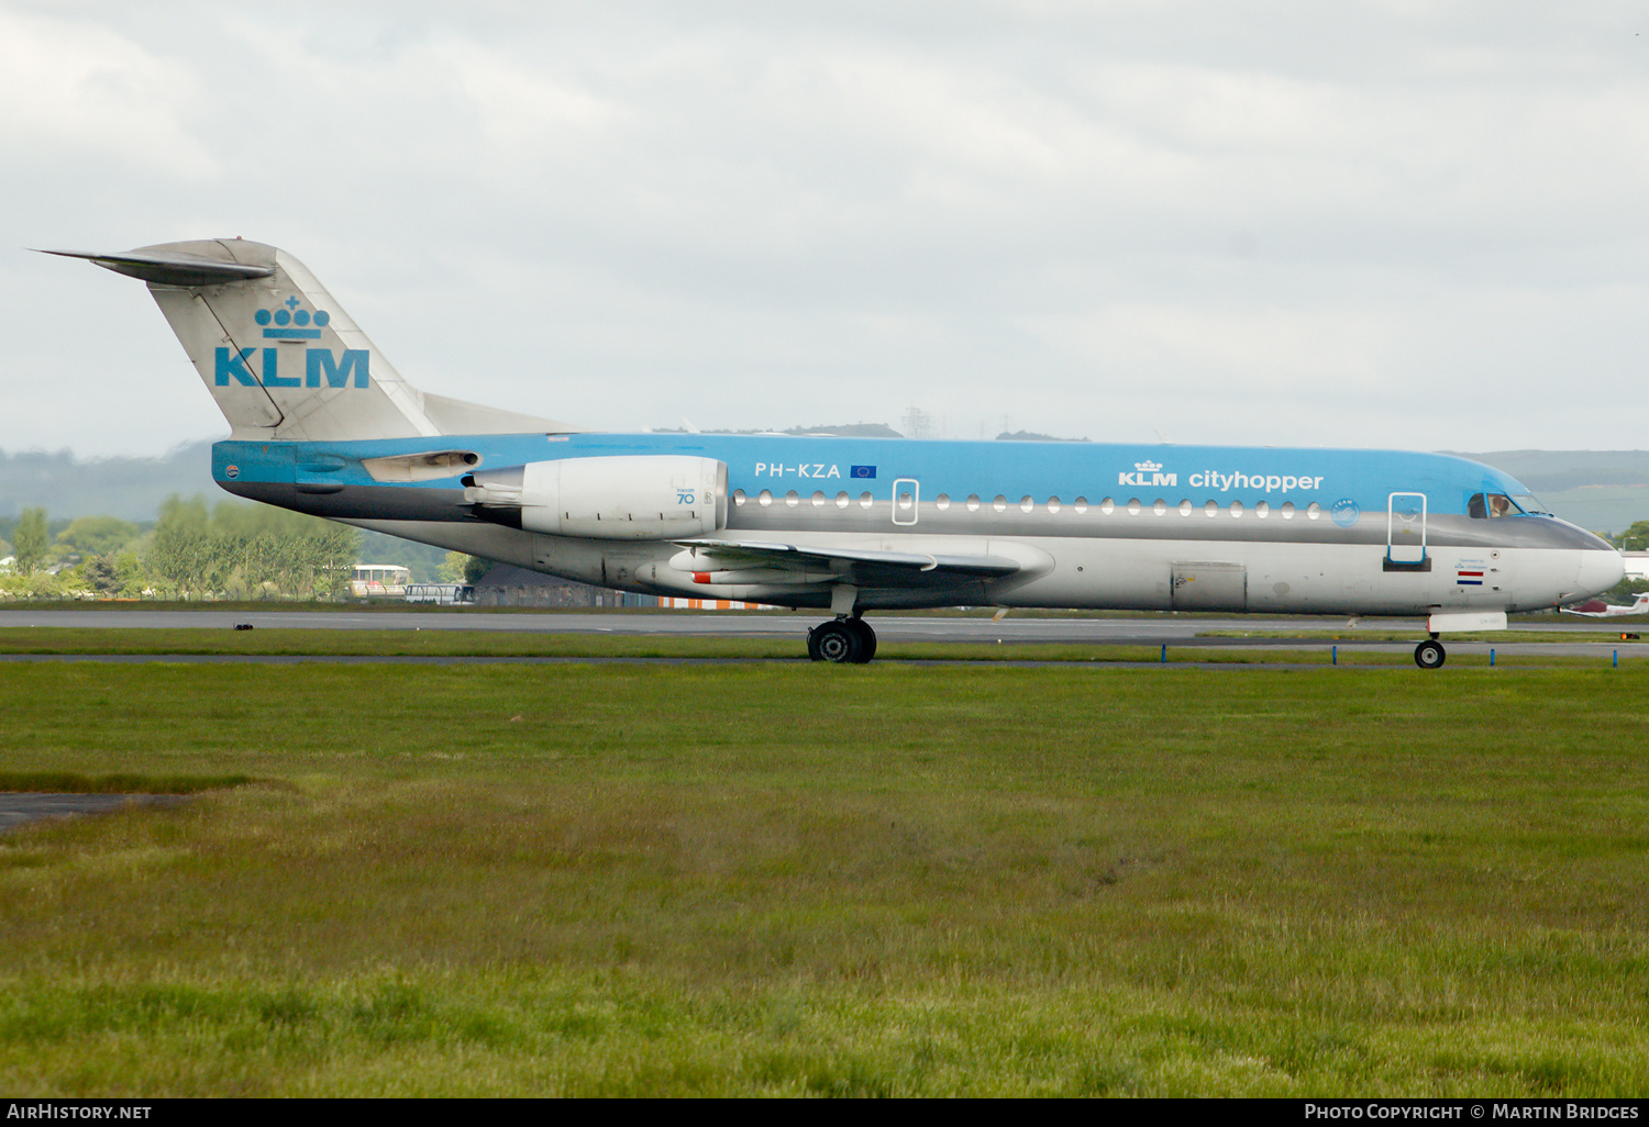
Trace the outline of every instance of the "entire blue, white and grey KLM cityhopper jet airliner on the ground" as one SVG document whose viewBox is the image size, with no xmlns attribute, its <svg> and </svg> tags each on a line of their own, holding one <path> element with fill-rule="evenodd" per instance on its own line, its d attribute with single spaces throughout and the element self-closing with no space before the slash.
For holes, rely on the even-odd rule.
<svg viewBox="0 0 1649 1127">
<path fill-rule="evenodd" d="M 302 262 L 242 239 L 56 250 L 142 278 L 233 427 L 229 493 L 585 583 L 816 606 L 1428 615 L 1506 626 L 1619 554 L 1497 470 L 1385 450 L 592 433 L 407 386 Z"/>
</svg>

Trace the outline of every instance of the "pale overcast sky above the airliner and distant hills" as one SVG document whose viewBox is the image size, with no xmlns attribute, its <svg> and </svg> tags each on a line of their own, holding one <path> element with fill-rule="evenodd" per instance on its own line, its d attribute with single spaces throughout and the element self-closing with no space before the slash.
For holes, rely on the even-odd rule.
<svg viewBox="0 0 1649 1127">
<path fill-rule="evenodd" d="M 615 430 L 1649 445 L 1641 3 L 0 0 L 0 448 L 228 433 L 139 282 L 290 250 Z"/>
</svg>

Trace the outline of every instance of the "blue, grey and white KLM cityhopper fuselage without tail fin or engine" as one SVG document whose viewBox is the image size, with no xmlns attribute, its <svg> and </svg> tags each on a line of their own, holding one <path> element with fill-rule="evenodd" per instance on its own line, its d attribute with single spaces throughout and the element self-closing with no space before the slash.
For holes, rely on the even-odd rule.
<svg viewBox="0 0 1649 1127">
<path fill-rule="evenodd" d="M 379 481 L 366 468 L 455 450 L 473 461 L 445 478 Z M 663 542 L 541 532 L 478 512 L 475 486 L 463 483 L 541 461 L 660 456 L 726 465 L 726 519 Z M 1384 450 L 444 435 L 223 442 L 213 476 L 244 498 L 566 578 L 660 595 L 714 588 L 717 598 L 782 606 L 831 606 L 834 588 L 851 582 L 859 610 L 1517 611 L 1606 590 L 1621 570 L 1611 545 L 1565 521 L 1522 507 L 1489 516 L 1486 498 L 1534 509 L 1507 475 Z M 679 504 L 668 483 L 660 498 Z M 717 503 L 712 494 L 707 504 Z M 679 559 L 684 540 L 696 542 L 694 559 Z M 714 564 L 716 544 L 737 555 L 749 540 L 796 552 Z M 889 570 L 849 555 L 826 565 L 808 549 L 1001 559 L 1014 568 Z"/>
</svg>

